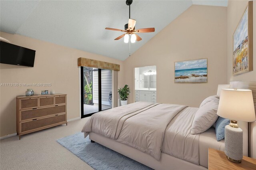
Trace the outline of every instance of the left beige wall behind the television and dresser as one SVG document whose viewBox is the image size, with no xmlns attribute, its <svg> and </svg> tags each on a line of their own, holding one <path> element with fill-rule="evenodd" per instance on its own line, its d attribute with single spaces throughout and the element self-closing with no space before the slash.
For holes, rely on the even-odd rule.
<svg viewBox="0 0 256 170">
<path fill-rule="evenodd" d="M 34 67 L 0 64 L 0 83 L 52 83 L 51 87 L 0 87 L 0 136 L 16 133 L 16 96 L 25 95 L 26 89 L 33 89 L 36 94 L 52 89 L 55 93 L 66 93 L 67 119 L 80 117 L 79 57 L 120 64 L 118 86 L 123 85 L 123 61 L 24 36 L 4 32 L 0 36 L 36 50 Z"/>
</svg>

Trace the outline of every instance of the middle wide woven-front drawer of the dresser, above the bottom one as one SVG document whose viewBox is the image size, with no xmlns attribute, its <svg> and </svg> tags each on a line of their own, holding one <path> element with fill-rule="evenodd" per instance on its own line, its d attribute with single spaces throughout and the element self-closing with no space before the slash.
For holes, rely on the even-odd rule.
<svg viewBox="0 0 256 170">
<path fill-rule="evenodd" d="M 29 111 L 21 111 L 21 121 L 26 119 L 32 119 L 35 117 L 42 117 L 48 115 L 54 115 L 57 113 L 66 113 L 66 105 L 63 106 L 54 106 L 42 109 L 32 109 Z"/>
</svg>

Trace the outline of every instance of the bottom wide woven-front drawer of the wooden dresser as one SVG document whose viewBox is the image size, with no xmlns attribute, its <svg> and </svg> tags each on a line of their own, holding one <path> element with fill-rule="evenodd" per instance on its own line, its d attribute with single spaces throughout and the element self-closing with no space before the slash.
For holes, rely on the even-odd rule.
<svg viewBox="0 0 256 170">
<path fill-rule="evenodd" d="M 34 130 L 36 128 L 45 127 L 45 126 L 53 125 L 55 123 L 60 123 L 60 122 L 66 122 L 66 114 L 21 123 L 21 132 Z"/>
</svg>

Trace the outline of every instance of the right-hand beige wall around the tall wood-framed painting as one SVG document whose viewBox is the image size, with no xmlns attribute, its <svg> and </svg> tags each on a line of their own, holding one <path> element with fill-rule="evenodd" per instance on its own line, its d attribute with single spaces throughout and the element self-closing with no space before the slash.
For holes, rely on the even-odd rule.
<svg viewBox="0 0 256 170">
<path fill-rule="evenodd" d="M 233 34 L 236 30 L 244 10 L 248 5 L 248 0 L 229 0 L 227 9 L 227 38 L 228 38 L 228 81 L 256 81 L 256 1 L 253 2 L 253 71 L 233 76 L 232 59 L 233 59 Z"/>
</svg>

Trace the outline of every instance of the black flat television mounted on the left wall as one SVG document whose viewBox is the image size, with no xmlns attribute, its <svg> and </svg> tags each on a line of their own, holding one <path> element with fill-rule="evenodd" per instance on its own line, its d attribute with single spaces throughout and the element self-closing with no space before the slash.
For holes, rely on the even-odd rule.
<svg viewBox="0 0 256 170">
<path fill-rule="evenodd" d="M 0 43 L 0 63 L 34 67 L 36 51 L 11 43 Z"/>
</svg>

